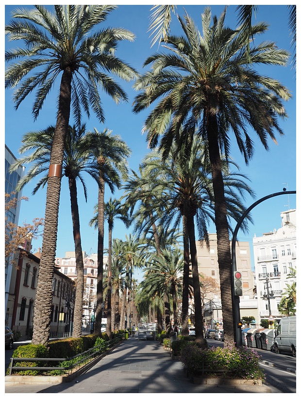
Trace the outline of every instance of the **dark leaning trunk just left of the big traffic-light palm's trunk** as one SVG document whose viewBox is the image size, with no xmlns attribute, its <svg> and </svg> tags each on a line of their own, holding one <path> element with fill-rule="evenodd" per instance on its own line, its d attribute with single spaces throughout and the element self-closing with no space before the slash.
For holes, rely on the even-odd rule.
<svg viewBox="0 0 301 398">
<path fill-rule="evenodd" d="M 195 309 L 195 327 L 196 327 L 196 342 L 200 343 L 201 347 L 206 347 L 203 334 L 203 316 L 201 306 L 201 287 L 199 278 L 199 267 L 197 257 L 197 245 L 194 229 L 194 216 L 190 213 L 187 216 L 187 231 L 189 236 L 189 247 L 191 255 L 192 281 L 193 281 L 193 296 Z"/>
</svg>

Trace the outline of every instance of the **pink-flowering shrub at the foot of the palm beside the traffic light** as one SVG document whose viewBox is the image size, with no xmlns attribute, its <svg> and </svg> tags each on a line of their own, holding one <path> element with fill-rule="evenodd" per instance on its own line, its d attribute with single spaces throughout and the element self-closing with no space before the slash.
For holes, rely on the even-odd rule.
<svg viewBox="0 0 301 398">
<path fill-rule="evenodd" d="M 216 374 L 223 370 L 223 375 L 233 379 L 264 379 L 264 373 L 259 367 L 259 355 L 247 348 L 199 348 L 195 343 L 187 343 L 181 349 L 181 362 L 191 373 Z"/>
</svg>

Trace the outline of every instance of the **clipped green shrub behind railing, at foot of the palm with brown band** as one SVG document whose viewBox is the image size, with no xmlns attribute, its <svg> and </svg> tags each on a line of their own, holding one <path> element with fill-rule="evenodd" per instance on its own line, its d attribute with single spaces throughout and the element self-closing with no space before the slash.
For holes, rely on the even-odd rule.
<svg viewBox="0 0 301 398">
<path fill-rule="evenodd" d="M 39 344 L 26 344 L 19 346 L 15 351 L 13 352 L 13 358 L 49 358 L 49 351 L 48 349 Z M 33 366 L 33 367 L 41 367 L 41 366 L 46 366 L 46 362 L 44 361 L 35 361 L 35 362 L 17 362 L 14 364 L 15 366 L 21 367 L 27 367 L 27 366 Z M 15 370 L 15 373 L 19 375 L 32 375 L 36 376 L 39 374 L 39 370 Z"/>
</svg>

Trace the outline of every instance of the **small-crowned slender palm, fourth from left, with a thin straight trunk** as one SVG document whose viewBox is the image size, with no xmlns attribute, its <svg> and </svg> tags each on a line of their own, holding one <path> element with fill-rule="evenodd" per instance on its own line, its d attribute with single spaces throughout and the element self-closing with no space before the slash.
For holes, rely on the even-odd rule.
<svg viewBox="0 0 301 398">
<path fill-rule="evenodd" d="M 89 225 L 98 228 L 98 206 L 95 206 L 95 217 L 93 217 Z M 126 208 L 117 199 L 110 198 L 104 204 L 104 218 L 108 221 L 109 235 L 108 235 L 108 291 L 107 291 L 107 326 L 106 333 L 110 340 L 112 339 L 112 319 L 111 319 L 111 291 L 112 291 L 112 232 L 114 228 L 114 221 L 116 219 L 122 220 L 126 226 L 129 226 L 129 217 Z"/>
</svg>

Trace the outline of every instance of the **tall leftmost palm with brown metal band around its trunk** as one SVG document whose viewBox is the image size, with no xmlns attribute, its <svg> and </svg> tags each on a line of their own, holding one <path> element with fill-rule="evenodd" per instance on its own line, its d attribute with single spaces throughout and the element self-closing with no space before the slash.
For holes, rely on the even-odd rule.
<svg viewBox="0 0 301 398">
<path fill-rule="evenodd" d="M 16 109 L 28 94 L 36 91 L 33 116 L 39 115 L 44 101 L 61 75 L 55 133 L 51 144 L 47 184 L 45 229 L 39 280 L 34 307 L 33 344 L 47 345 L 50 336 L 51 283 L 57 240 L 58 209 L 65 137 L 70 109 L 78 126 L 82 112 L 90 109 L 104 121 L 99 87 L 117 103 L 127 100 L 126 93 L 107 72 L 130 81 L 135 70 L 115 55 L 120 40 L 134 40 L 124 29 L 96 30 L 112 12 L 114 5 L 54 5 L 53 12 L 42 5 L 17 9 L 14 21 L 5 26 L 9 40 L 24 40 L 25 48 L 5 51 L 9 66 L 5 88 L 16 88 Z M 20 60 L 18 62 L 12 62 Z"/>
</svg>

